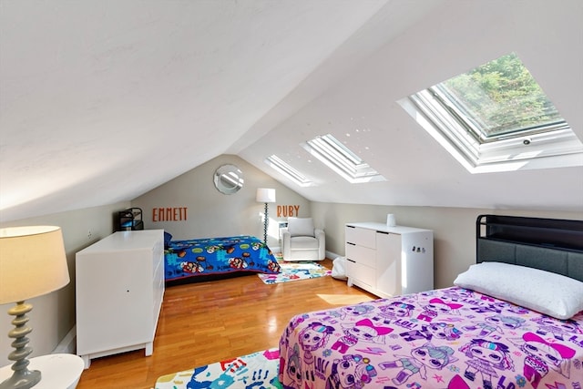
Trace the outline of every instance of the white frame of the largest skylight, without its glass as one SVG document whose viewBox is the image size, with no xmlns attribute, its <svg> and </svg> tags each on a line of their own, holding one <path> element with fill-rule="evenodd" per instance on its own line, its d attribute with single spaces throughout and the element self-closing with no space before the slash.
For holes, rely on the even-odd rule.
<svg viewBox="0 0 583 389">
<path fill-rule="evenodd" d="M 469 172 L 583 166 L 583 144 L 564 119 L 487 137 L 441 84 L 398 104 Z"/>
</svg>

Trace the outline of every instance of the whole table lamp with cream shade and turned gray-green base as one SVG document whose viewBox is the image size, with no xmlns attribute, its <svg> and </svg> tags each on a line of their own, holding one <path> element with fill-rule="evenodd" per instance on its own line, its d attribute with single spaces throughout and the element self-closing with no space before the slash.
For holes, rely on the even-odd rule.
<svg viewBox="0 0 583 389">
<path fill-rule="evenodd" d="M 15 328 L 8 332 L 15 350 L 8 354 L 14 373 L 0 389 L 26 389 L 38 384 L 41 372 L 28 370 L 26 313 L 33 309 L 25 300 L 56 291 L 69 282 L 63 234 L 59 227 L 32 226 L 0 229 L 0 304 L 15 302 L 8 314 Z"/>
</svg>

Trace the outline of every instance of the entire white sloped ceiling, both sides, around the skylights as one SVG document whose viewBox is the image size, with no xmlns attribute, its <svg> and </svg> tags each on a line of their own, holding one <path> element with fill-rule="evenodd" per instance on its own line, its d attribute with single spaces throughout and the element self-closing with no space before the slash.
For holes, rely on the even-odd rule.
<svg viewBox="0 0 583 389">
<path fill-rule="evenodd" d="M 223 153 L 310 200 L 583 210 L 583 169 L 471 175 L 395 103 L 515 51 L 583 139 L 582 17 L 579 0 L 0 0 L 0 221 L 132 200 Z M 324 133 L 388 181 L 312 161 L 299 143 Z"/>
</svg>

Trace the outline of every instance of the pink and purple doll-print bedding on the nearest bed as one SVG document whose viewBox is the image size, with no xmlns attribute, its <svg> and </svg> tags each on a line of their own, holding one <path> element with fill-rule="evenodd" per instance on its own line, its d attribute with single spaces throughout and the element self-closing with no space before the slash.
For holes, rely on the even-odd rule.
<svg viewBox="0 0 583 389">
<path fill-rule="evenodd" d="M 581 388 L 583 312 L 455 286 L 297 315 L 280 355 L 284 388 Z"/>
</svg>

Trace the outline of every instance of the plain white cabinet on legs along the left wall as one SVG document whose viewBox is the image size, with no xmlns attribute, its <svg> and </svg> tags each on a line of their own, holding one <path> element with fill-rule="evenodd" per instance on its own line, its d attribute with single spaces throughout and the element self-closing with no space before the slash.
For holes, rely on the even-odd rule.
<svg viewBox="0 0 583 389">
<path fill-rule="evenodd" d="M 146 349 L 164 295 L 164 231 L 119 231 L 76 255 L 77 355 Z"/>
</svg>

